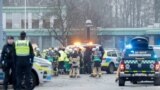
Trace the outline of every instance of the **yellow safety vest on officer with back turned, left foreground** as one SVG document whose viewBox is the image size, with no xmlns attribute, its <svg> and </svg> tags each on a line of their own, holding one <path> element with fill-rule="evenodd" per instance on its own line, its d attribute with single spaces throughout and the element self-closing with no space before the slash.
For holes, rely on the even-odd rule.
<svg viewBox="0 0 160 90">
<path fill-rule="evenodd" d="M 16 55 L 17 56 L 28 56 L 30 53 L 29 41 L 28 40 L 18 40 L 15 42 Z"/>
</svg>

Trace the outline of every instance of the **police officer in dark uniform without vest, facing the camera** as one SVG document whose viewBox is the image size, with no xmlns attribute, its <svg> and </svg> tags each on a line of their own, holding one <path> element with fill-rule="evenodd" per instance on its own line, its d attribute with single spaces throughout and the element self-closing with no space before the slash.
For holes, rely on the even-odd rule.
<svg viewBox="0 0 160 90">
<path fill-rule="evenodd" d="M 1 64 L 4 76 L 4 90 L 8 89 L 8 83 L 10 77 L 13 79 L 13 87 L 15 88 L 15 63 L 14 63 L 14 48 L 13 48 L 14 38 L 9 36 L 7 38 L 7 43 L 4 45 L 1 55 Z M 11 73 L 12 72 L 12 75 Z M 12 77 L 13 76 L 13 77 Z"/>
</svg>

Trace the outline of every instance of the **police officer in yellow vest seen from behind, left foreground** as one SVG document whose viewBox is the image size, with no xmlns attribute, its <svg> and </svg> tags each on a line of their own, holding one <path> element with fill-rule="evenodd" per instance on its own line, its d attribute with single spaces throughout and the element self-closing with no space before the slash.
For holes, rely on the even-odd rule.
<svg viewBox="0 0 160 90">
<path fill-rule="evenodd" d="M 20 40 L 15 42 L 17 90 L 22 90 L 22 80 L 26 90 L 32 90 L 30 83 L 34 51 L 31 43 L 26 40 L 26 33 L 20 33 Z M 25 78 L 24 78 L 25 77 Z"/>
</svg>

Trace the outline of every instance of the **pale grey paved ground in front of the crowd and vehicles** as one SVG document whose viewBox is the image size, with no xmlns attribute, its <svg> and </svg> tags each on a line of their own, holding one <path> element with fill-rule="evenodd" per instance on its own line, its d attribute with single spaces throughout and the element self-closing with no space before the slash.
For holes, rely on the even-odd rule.
<svg viewBox="0 0 160 90">
<path fill-rule="evenodd" d="M 139 84 L 126 83 L 119 87 L 115 83 L 115 74 L 105 74 L 101 78 L 91 78 L 81 75 L 81 78 L 69 78 L 67 75 L 54 77 L 51 82 L 46 82 L 35 90 L 160 90 L 160 86 L 153 86 L 152 82 Z"/>
</svg>

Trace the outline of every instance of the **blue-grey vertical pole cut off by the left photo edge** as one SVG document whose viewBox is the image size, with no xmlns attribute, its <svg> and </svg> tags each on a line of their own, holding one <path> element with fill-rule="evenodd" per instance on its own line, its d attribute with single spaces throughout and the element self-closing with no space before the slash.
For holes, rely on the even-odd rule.
<svg viewBox="0 0 160 90">
<path fill-rule="evenodd" d="M 3 45 L 2 8 L 3 8 L 3 0 L 0 0 L 0 50 Z"/>
</svg>

